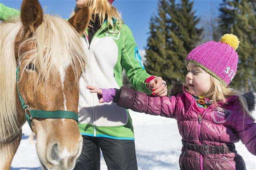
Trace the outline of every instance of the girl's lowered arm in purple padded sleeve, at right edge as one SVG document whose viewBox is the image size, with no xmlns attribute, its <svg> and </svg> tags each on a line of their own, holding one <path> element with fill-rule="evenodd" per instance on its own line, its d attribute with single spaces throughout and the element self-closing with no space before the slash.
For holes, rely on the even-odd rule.
<svg viewBox="0 0 256 170">
<path fill-rule="evenodd" d="M 245 118 L 243 117 L 243 113 L 238 113 L 235 130 L 247 150 L 252 153 L 252 155 L 256 155 L 256 123 L 254 120 L 250 118 L 247 113 Z"/>
</svg>

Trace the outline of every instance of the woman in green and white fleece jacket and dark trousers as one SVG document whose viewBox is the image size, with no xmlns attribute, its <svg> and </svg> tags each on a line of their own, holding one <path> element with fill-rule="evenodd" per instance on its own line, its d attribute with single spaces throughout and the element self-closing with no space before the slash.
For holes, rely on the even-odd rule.
<svg viewBox="0 0 256 170">
<path fill-rule="evenodd" d="M 167 87 L 161 77 L 146 73 L 131 30 L 111 4 L 114 0 L 76 0 L 78 12 L 89 7 L 90 26 L 84 32 L 89 69 L 80 79 L 79 128 L 84 148 L 75 169 L 99 170 L 100 149 L 109 170 L 136 170 L 136 152 L 131 117 L 128 110 L 115 103 L 99 104 L 97 96 L 90 94 L 87 85 L 108 89 L 122 86 L 125 69 L 133 87 L 153 96 L 166 96 Z M 1 4 L 2 5 L 2 4 Z M 12 14 L 14 9 L 1 6 Z M 15 11 L 17 12 L 17 11 Z M 153 91 L 153 92 L 152 92 Z"/>
</svg>

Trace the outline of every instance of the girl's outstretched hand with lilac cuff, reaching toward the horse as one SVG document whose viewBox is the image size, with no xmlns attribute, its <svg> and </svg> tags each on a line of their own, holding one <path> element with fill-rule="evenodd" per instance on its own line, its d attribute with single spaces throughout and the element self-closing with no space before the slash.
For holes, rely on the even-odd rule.
<svg viewBox="0 0 256 170">
<path fill-rule="evenodd" d="M 95 87 L 93 85 L 88 85 L 86 88 L 89 89 L 91 93 L 98 94 L 99 103 L 111 102 L 116 96 L 116 90 L 113 88 L 100 89 L 99 87 Z"/>
</svg>

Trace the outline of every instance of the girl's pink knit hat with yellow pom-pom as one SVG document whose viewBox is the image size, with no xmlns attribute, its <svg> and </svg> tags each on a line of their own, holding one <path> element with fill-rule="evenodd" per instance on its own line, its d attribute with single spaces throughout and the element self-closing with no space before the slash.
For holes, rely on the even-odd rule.
<svg viewBox="0 0 256 170">
<path fill-rule="evenodd" d="M 238 45 L 237 36 L 225 34 L 220 42 L 210 41 L 194 48 L 187 55 L 186 65 L 188 62 L 198 64 L 227 86 L 237 73 L 238 55 L 235 50 Z"/>
</svg>

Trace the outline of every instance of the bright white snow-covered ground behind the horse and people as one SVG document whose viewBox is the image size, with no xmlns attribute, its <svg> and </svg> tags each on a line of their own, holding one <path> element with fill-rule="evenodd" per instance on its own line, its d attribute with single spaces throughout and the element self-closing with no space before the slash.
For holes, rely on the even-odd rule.
<svg viewBox="0 0 256 170">
<path fill-rule="evenodd" d="M 178 170 L 181 153 L 181 136 L 174 119 L 130 111 L 135 130 L 136 155 L 140 170 Z M 22 128 L 21 144 L 14 156 L 11 170 L 39 170 L 35 145 L 28 136 L 31 131 L 26 123 Z M 256 157 L 239 142 L 236 149 L 245 160 L 247 170 L 256 170 Z M 101 156 L 101 169 L 107 166 Z"/>
</svg>

